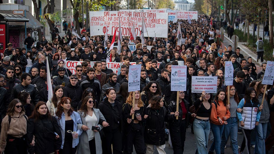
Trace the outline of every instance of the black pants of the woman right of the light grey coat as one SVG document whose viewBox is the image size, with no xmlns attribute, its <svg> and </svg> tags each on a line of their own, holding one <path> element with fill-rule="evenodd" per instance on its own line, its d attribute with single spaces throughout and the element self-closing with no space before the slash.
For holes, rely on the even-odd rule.
<svg viewBox="0 0 274 154">
<path fill-rule="evenodd" d="M 105 137 L 102 140 L 103 154 L 122 154 L 122 133 L 120 130 L 112 130 L 112 132 L 104 132 Z"/>
</svg>

